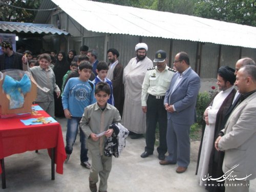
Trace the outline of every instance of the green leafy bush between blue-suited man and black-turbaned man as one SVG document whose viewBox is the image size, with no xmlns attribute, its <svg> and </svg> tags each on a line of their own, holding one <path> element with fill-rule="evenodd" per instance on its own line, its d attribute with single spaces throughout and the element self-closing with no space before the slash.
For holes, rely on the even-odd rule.
<svg viewBox="0 0 256 192">
<path fill-rule="evenodd" d="M 207 92 L 199 93 L 197 96 L 197 105 L 196 105 L 197 123 L 200 125 L 203 123 L 202 117 L 210 101 L 211 101 L 211 98 Z"/>
</svg>

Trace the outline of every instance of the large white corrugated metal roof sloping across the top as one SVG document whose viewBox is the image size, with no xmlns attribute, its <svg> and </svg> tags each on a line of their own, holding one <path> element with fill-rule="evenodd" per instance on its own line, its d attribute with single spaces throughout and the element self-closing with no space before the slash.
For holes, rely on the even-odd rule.
<svg viewBox="0 0 256 192">
<path fill-rule="evenodd" d="M 256 27 L 87 0 L 51 0 L 89 31 L 256 48 Z"/>
</svg>

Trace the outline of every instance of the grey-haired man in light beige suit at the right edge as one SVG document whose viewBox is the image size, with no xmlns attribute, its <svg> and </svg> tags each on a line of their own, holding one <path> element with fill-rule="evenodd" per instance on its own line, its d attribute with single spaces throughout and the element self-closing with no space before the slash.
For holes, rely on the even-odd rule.
<svg viewBox="0 0 256 192">
<path fill-rule="evenodd" d="M 216 150 L 225 151 L 226 192 L 249 191 L 249 180 L 256 178 L 256 66 L 240 68 L 236 79 L 241 96 L 215 141 Z"/>
</svg>

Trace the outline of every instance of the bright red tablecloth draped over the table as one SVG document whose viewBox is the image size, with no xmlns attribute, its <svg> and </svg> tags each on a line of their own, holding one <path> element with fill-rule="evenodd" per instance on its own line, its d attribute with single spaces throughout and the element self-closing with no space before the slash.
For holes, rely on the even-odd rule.
<svg viewBox="0 0 256 192">
<path fill-rule="evenodd" d="M 20 119 L 49 117 L 45 111 L 41 115 L 0 119 L 0 159 L 26 151 L 55 147 L 56 172 L 63 174 L 66 152 L 59 123 L 24 125 Z M 0 174 L 2 168 L 0 166 Z"/>
</svg>

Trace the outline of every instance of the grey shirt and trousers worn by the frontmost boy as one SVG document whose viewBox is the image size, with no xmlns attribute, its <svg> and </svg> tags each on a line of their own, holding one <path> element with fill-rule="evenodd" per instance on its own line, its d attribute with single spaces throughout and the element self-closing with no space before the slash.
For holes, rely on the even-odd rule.
<svg viewBox="0 0 256 192">
<path fill-rule="evenodd" d="M 105 135 L 101 136 L 97 141 L 93 141 L 90 137 L 91 133 L 100 134 L 107 131 L 111 124 L 121 122 L 121 117 L 115 106 L 106 103 L 105 109 L 102 111 L 97 103 L 89 105 L 84 109 L 82 119 L 80 121 L 81 131 L 87 137 L 87 147 L 92 156 L 92 167 L 90 170 L 89 181 L 98 182 L 100 177 L 99 191 L 106 191 L 108 188 L 108 178 L 112 167 L 112 156 L 104 155 Z"/>
</svg>

